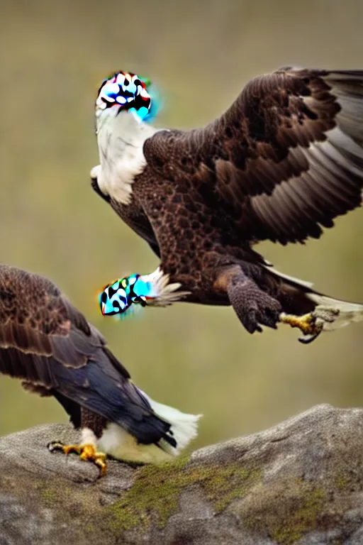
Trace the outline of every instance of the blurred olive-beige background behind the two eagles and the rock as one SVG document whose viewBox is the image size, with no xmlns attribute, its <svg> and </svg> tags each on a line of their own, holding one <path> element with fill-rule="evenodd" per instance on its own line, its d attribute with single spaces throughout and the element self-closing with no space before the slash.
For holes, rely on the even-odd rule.
<svg viewBox="0 0 363 545">
<path fill-rule="evenodd" d="M 94 100 L 130 70 L 163 97 L 159 126 L 218 116 L 248 79 L 281 65 L 363 68 L 361 0 L 1 0 L 1 261 L 48 276 L 150 396 L 203 412 L 194 446 L 264 429 L 328 402 L 363 405 L 363 324 L 303 346 L 287 326 L 250 336 L 232 309 L 176 304 L 123 322 L 99 313 L 108 281 L 157 259 L 91 190 Z M 306 246 L 258 247 L 286 274 L 363 302 L 363 213 Z M 55 400 L 0 377 L 0 435 L 65 422 Z"/>
</svg>

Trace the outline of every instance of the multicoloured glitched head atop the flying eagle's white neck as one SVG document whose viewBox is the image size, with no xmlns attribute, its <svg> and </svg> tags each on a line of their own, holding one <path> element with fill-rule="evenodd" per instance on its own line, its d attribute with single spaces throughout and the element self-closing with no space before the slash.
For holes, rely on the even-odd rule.
<svg viewBox="0 0 363 545">
<path fill-rule="evenodd" d="M 132 72 L 116 72 L 104 79 L 96 99 L 96 117 L 109 109 L 136 114 L 140 121 L 150 121 L 155 115 L 156 104 L 149 93 L 150 79 Z"/>
</svg>

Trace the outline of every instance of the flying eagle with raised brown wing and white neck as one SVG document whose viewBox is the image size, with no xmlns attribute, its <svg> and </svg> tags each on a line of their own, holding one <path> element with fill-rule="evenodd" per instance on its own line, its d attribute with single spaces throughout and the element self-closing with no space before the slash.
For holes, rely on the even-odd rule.
<svg viewBox="0 0 363 545">
<path fill-rule="evenodd" d="M 363 319 L 362 305 L 315 292 L 252 249 L 319 238 L 361 206 L 363 70 L 281 68 L 192 131 L 149 123 L 149 85 L 125 72 L 101 84 L 91 183 L 161 258 L 159 285 L 161 274 L 187 302 L 231 304 L 250 333 L 284 321 L 311 340 Z"/>
</svg>

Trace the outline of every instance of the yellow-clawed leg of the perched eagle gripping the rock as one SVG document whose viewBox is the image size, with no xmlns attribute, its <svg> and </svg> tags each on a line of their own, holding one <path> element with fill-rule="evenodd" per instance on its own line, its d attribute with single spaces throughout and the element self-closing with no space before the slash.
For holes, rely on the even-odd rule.
<svg viewBox="0 0 363 545">
<path fill-rule="evenodd" d="M 64 445 L 60 441 L 48 444 L 50 452 L 61 451 L 68 454 L 74 452 L 84 461 L 90 461 L 99 468 L 99 477 L 104 475 L 107 468 L 106 454 L 97 451 L 97 437 L 102 435 L 106 427 L 106 420 L 88 409 L 82 407 L 82 440 L 79 445 Z"/>
</svg>

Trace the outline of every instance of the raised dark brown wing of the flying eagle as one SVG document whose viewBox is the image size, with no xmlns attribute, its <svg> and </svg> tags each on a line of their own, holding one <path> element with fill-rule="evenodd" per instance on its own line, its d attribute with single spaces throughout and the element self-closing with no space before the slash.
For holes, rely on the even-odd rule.
<svg viewBox="0 0 363 545">
<path fill-rule="evenodd" d="M 194 179 L 244 240 L 318 238 L 362 204 L 363 70 L 257 77 L 206 128 L 158 132 L 144 152 L 157 175 Z"/>
</svg>

